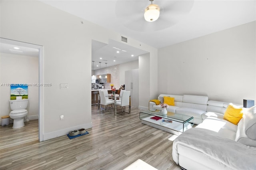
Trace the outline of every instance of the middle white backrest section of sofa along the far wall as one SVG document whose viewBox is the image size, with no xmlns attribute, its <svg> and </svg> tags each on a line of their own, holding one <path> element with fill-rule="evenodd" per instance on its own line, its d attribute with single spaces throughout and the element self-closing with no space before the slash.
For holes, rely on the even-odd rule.
<svg viewBox="0 0 256 170">
<path fill-rule="evenodd" d="M 182 107 L 206 111 L 208 96 L 183 95 Z"/>
</svg>

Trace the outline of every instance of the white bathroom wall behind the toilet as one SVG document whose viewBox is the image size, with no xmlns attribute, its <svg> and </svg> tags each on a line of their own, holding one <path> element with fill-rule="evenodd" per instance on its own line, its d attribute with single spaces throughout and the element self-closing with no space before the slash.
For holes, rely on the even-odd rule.
<svg viewBox="0 0 256 170">
<path fill-rule="evenodd" d="M 38 57 L 0 54 L 0 82 L 33 84 L 39 82 Z M 10 86 L 1 85 L 0 117 L 10 114 Z M 28 118 L 38 119 L 38 86 L 28 87 Z"/>
</svg>

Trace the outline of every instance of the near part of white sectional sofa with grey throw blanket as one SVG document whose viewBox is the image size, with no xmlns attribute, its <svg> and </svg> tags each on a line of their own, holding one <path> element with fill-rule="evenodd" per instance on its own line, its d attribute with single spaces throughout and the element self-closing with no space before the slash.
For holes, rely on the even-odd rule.
<svg viewBox="0 0 256 170">
<path fill-rule="evenodd" d="M 242 119 L 234 125 L 223 119 L 221 113 L 216 113 L 224 111 L 223 103 L 211 101 L 208 104 L 214 112 L 203 115 L 205 119 L 201 124 L 174 140 L 174 162 L 186 170 L 255 170 L 256 106 L 244 108 Z"/>
</svg>

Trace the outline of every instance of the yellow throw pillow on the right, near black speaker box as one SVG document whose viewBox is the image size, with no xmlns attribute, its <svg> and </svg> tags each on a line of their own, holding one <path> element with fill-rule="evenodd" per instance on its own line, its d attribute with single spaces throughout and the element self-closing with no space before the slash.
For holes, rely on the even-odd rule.
<svg viewBox="0 0 256 170">
<path fill-rule="evenodd" d="M 240 119 L 243 117 L 242 108 L 235 108 L 234 105 L 228 105 L 226 112 L 224 113 L 224 118 L 227 121 L 237 125 Z"/>
</svg>

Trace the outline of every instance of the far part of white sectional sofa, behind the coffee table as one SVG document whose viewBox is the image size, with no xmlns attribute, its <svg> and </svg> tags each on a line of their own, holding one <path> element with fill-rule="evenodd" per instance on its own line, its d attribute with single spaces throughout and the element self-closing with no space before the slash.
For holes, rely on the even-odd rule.
<svg viewBox="0 0 256 170">
<path fill-rule="evenodd" d="M 194 117 L 194 124 L 197 125 L 202 123 L 210 115 L 223 117 L 229 104 L 222 101 L 208 101 L 207 96 L 167 94 L 160 94 L 158 96 L 160 103 L 163 103 L 164 96 L 174 97 L 175 106 L 169 106 L 167 111 L 192 116 Z M 235 105 L 242 107 L 242 105 Z M 150 101 L 149 110 L 156 111 L 162 110 L 162 108 L 160 105 L 156 105 L 156 103 Z"/>
</svg>

